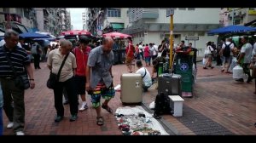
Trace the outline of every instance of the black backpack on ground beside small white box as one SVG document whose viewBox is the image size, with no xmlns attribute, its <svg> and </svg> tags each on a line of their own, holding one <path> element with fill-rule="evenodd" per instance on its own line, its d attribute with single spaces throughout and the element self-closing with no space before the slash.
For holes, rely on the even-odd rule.
<svg viewBox="0 0 256 143">
<path fill-rule="evenodd" d="M 154 100 L 154 117 L 164 114 L 172 114 L 170 99 L 167 94 L 157 94 Z"/>
</svg>

